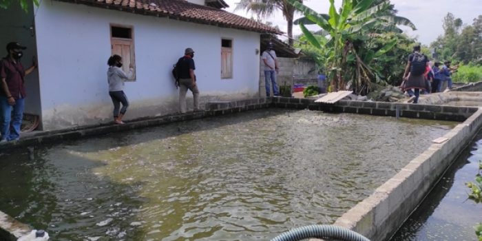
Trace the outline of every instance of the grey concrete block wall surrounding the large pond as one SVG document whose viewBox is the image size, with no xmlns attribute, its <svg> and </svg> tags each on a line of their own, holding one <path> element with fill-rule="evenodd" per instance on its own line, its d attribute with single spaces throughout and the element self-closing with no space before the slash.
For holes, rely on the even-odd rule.
<svg viewBox="0 0 482 241">
<path fill-rule="evenodd" d="M 414 158 L 398 174 L 378 187 L 374 193 L 337 219 L 335 225 L 346 227 L 365 235 L 370 240 L 388 240 L 404 223 L 410 213 L 438 182 L 443 172 L 472 140 L 482 126 L 482 109 L 478 107 L 453 107 L 440 105 L 413 105 L 404 103 L 339 101 L 336 104 L 315 103 L 306 98 L 253 98 L 243 101 L 216 101 L 206 105 L 203 112 L 173 114 L 155 118 L 143 118 L 126 125 L 90 125 L 51 132 L 24 135 L 21 140 L 3 143 L 0 149 L 28 147 L 45 143 L 59 143 L 72 138 L 84 138 L 163 125 L 176 121 L 189 121 L 208 116 L 222 116 L 252 109 L 280 107 L 290 109 L 311 109 L 324 112 L 346 112 L 375 116 L 396 116 L 425 118 L 441 121 L 459 121 L 440 144 L 433 144 Z M 17 228 L 12 228 L 17 227 Z M 21 233 L 28 233 L 28 227 L 19 224 L 5 213 L 0 212 L 0 240 L 16 240 Z"/>
</svg>

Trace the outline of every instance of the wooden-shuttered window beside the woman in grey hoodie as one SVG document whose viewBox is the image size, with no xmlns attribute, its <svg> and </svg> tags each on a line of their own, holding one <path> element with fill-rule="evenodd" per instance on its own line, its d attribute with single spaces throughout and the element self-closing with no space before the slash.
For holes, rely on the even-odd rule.
<svg viewBox="0 0 482 241">
<path fill-rule="evenodd" d="M 122 70 L 129 72 L 129 65 L 136 65 L 134 57 L 134 38 L 132 27 L 111 25 L 110 26 L 110 43 L 112 55 L 118 54 L 122 57 Z M 134 76 L 135 77 L 135 76 Z"/>
</svg>

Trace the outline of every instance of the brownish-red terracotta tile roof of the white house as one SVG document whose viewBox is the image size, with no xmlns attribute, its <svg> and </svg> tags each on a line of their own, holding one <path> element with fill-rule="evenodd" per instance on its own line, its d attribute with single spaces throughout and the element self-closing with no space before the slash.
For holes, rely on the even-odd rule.
<svg viewBox="0 0 482 241">
<path fill-rule="evenodd" d="M 190 21 L 222 28 L 235 28 L 253 32 L 281 34 L 280 30 L 258 23 L 218 8 L 201 6 L 185 0 L 56 0 L 85 4 L 98 8 L 109 8 L 157 17 L 169 17 L 180 21 Z M 113 8 L 114 7 L 114 8 Z"/>
</svg>

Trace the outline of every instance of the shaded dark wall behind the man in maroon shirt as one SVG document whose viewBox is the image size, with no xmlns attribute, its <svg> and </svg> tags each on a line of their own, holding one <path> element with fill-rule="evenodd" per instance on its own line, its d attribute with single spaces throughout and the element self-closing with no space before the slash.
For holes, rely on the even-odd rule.
<svg viewBox="0 0 482 241">
<path fill-rule="evenodd" d="M 36 54 L 33 3 L 27 2 L 28 12 L 21 10 L 19 1 L 12 1 L 8 10 L 0 8 L 0 58 L 7 56 L 7 43 L 19 42 L 27 47 L 21 59 L 25 69 L 32 66 L 32 56 Z M 39 76 L 36 71 L 25 77 L 25 91 L 25 113 L 41 116 Z"/>
</svg>

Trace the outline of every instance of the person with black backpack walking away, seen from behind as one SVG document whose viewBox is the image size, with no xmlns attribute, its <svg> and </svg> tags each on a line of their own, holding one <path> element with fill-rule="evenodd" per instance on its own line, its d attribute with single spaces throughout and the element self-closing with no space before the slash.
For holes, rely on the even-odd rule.
<svg viewBox="0 0 482 241">
<path fill-rule="evenodd" d="M 408 63 L 404 72 L 404 91 L 410 95 L 408 102 L 418 103 L 420 90 L 426 90 L 425 73 L 428 58 L 420 52 L 420 45 L 413 48 L 413 53 L 408 55 Z M 415 93 L 412 91 L 415 89 Z"/>
</svg>

